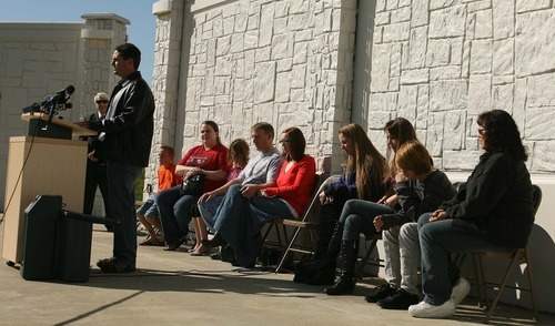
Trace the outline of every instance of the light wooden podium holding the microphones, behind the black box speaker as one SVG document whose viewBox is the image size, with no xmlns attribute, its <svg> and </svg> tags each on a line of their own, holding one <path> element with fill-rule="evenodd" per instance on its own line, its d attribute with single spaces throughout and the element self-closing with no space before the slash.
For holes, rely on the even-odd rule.
<svg viewBox="0 0 555 326">
<path fill-rule="evenodd" d="M 21 263 L 24 210 L 37 195 L 61 195 L 64 210 L 82 212 L 88 149 L 87 142 L 71 136 L 97 134 L 58 118 L 49 121 L 42 113 L 21 119 L 29 122 L 30 135 L 10 137 L 2 224 L 2 257 L 12 263 Z"/>
</svg>

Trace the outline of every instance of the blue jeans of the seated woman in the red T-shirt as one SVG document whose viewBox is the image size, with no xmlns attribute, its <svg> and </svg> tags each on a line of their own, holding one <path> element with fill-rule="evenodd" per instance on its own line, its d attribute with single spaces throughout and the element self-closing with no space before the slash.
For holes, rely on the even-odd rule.
<svg viewBox="0 0 555 326">
<path fill-rule="evenodd" d="M 161 191 L 157 196 L 157 206 L 160 212 L 160 222 L 164 231 L 168 245 L 175 244 L 189 233 L 191 222 L 191 207 L 196 204 L 200 196 L 181 196 L 181 185 Z"/>
</svg>

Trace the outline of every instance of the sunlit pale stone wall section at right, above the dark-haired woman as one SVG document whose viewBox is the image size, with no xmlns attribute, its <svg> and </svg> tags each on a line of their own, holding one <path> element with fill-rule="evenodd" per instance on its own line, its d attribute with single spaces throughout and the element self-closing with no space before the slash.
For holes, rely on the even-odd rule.
<svg viewBox="0 0 555 326">
<path fill-rule="evenodd" d="M 555 172 L 553 1 L 377 0 L 369 116 L 415 123 L 438 166 L 471 170 L 477 115 L 516 120 L 532 172 Z"/>
</svg>

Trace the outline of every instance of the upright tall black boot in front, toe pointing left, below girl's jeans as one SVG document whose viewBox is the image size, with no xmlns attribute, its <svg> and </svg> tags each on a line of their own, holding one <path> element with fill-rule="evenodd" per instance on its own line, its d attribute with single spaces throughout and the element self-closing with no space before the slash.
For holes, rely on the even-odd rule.
<svg viewBox="0 0 555 326">
<path fill-rule="evenodd" d="M 332 287 L 324 292 L 327 295 L 352 294 L 356 281 L 354 278 L 354 267 L 356 265 L 356 254 L 354 241 L 344 241 L 341 243 L 340 253 L 340 277 Z"/>
</svg>

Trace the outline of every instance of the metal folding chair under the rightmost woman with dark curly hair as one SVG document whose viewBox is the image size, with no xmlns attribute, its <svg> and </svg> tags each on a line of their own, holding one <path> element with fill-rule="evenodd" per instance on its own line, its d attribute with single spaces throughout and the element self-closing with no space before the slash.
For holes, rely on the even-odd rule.
<svg viewBox="0 0 555 326">
<path fill-rule="evenodd" d="M 533 193 L 533 203 L 534 203 L 534 215 L 536 214 L 539 204 L 542 203 L 542 190 L 537 185 L 533 185 L 534 187 L 534 193 Z M 527 247 L 524 248 L 518 248 L 512 252 L 477 252 L 477 253 L 468 253 L 467 255 L 471 255 L 473 257 L 473 263 L 474 263 L 474 272 L 475 272 L 475 277 L 476 277 L 476 285 L 477 285 L 477 294 L 478 294 L 478 303 L 482 305 L 482 299 L 483 296 L 485 297 L 485 304 L 488 306 L 487 313 L 486 313 L 486 319 L 485 323 L 490 323 L 490 319 L 492 317 L 492 313 L 495 309 L 495 306 L 497 305 L 497 302 L 500 300 L 501 294 L 505 287 L 509 287 L 513 289 L 519 289 L 519 291 L 526 291 L 531 293 L 532 296 L 532 307 L 534 309 L 534 318 L 536 322 L 538 322 L 538 315 L 537 315 L 537 308 L 536 308 L 536 296 L 534 293 L 534 282 L 532 277 L 532 265 L 528 259 L 528 249 Z M 505 274 L 503 276 L 503 281 L 501 283 L 494 283 L 494 282 L 486 282 L 484 277 L 484 266 L 482 264 L 483 258 L 488 258 L 488 257 L 497 257 L 497 258 L 508 258 L 511 259 L 511 263 L 508 264 L 507 268 L 505 269 Z M 526 268 L 524 269 L 525 273 L 528 274 L 528 285 L 529 287 L 521 287 L 521 286 L 511 286 L 507 285 L 508 276 L 511 274 L 511 271 L 513 271 L 514 266 L 516 265 L 516 261 L 524 261 L 526 264 Z M 462 262 L 462 259 L 461 259 Z M 516 265 L 518 266 L 518 265 Z M 487 288 L 486 286 L 491 286 L 492 288 L 497 288 L 497 295 L 495 296 L 495 299 L 491 305 L 488 305 L 488 297 L 487 297 Z"/>
</svg>

